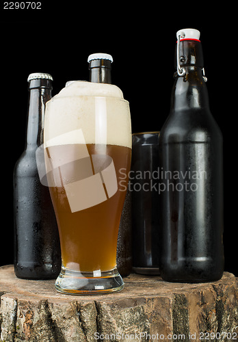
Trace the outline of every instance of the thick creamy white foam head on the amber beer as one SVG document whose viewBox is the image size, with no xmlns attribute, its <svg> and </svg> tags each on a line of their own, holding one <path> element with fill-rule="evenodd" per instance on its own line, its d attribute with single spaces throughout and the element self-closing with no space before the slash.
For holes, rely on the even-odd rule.
<svg viewBox="0 0 238 342">
<path fill-rule="evenodd" d="M 73 81 L 47 102 L 45 147 L 79 143 L 75 137 L 78 130 L 82 131 L 86 144 L 131 148 L 129 103 L 120 88 L 106 83 Z"/>
</svg>

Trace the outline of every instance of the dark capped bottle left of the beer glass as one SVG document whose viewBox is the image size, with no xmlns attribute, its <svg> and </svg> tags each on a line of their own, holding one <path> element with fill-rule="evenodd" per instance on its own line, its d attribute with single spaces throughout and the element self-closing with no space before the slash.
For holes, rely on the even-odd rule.
<svg viewBox="0 0 238 342">
<path fill-rule="evenodd" d="M 43 143 L 52 77 L 34 73 L 28 81 L 26 147 L 14 168 L 14 271 L 18 278 L 50 279 L 61 268 L 59 233 L 49 187 L 40 183 L 36 150 Z"/>
</svg>

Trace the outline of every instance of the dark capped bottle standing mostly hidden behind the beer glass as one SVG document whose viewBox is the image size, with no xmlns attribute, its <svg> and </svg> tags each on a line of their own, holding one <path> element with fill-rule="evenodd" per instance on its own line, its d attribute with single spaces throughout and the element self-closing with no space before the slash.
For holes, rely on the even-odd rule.
<svg viewBox="0 0 238 342">
<path fill-rule="evenodd" d="M 111 63 L 107 53 L 93 53 L 88 57 L 90 82 L 111 84 Z M 132 269 L 131 249 L 131 192 L 127 189 L 118 231 L 116 263 L 122 277 L 129 276 Z"/>
</svg>

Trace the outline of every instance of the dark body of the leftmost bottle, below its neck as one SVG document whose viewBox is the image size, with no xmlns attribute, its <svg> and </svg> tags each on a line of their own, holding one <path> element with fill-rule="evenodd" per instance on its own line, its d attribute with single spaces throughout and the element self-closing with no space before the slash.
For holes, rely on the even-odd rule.
<svg viewBox="0 0 238 342">
<path fill-rule="evenodd" d="M 49 188 L 40 183 L 36 151 L 23 153 L 14 169 L 15 248 L 18 278 L 56 278 L 61 259 Z"/>
</svg>

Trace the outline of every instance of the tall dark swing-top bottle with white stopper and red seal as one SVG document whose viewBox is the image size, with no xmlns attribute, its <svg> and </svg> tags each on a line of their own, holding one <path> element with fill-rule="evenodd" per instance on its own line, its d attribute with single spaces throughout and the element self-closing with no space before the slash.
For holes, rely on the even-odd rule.
<svg viewBox="0 0 238 342">
<path fill-rule="evenodd" d="M 222 133 L 209 109 L 200 32 L 177 32 L 170 114 L 159 135 L 160 272 L 170 282 L 224 271 Z"/>
</svg>

